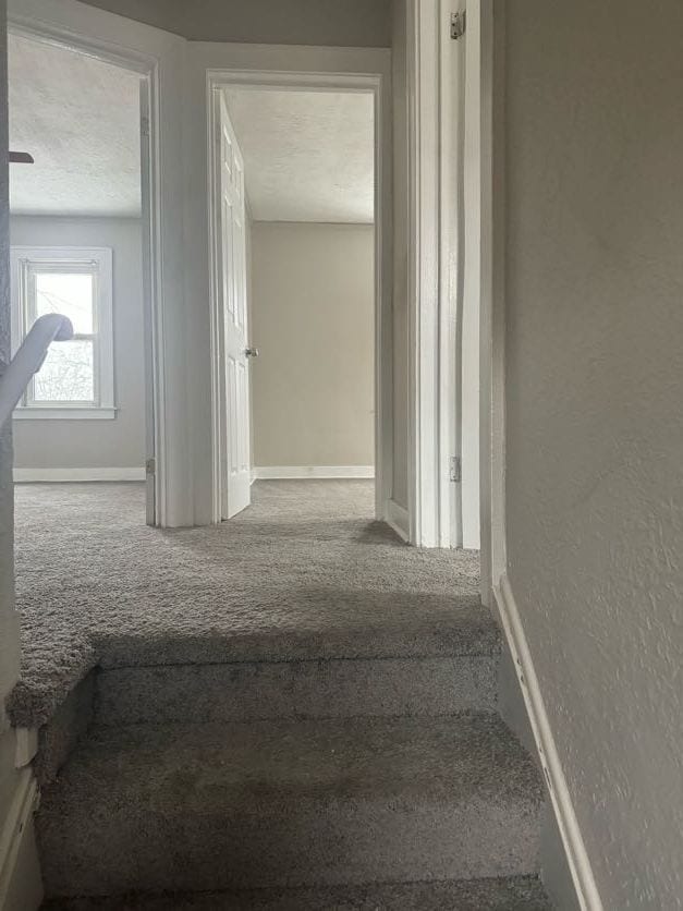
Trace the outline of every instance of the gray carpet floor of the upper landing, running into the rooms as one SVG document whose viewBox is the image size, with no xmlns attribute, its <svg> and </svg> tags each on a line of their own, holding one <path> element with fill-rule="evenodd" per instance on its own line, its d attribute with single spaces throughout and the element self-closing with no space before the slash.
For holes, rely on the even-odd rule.
<svg viewBox="0 0 683 911">
<path fill-rule="evenodd" d="M 368 482 L 261 482 L 220 527 L 144 524 L 135 484 L 19 485 L 15 724 L 89 669 L 491 654 L 478 554 L 405 547 Z"/>
</svg>

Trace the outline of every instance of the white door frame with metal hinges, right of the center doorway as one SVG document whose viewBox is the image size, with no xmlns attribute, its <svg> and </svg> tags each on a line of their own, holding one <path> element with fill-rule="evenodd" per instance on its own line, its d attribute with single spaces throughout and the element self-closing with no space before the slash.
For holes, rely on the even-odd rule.
<svg viewBox="0 0 683 911">
<path fill-rule="evenodd" d="M 455 9 L 446 0 L 406 4 L 408 512 L 411 543 L 423 547 L 478 547 L 479 527 L 486 535 L 490 525 L 481 513 L 490 502 L 488 461 L 481 462 L 490 456 L 488 437 L 481 436 L 490 428 L 490 403 L 486 421 L 480 416 L 481 396 L 488 389 L 483 375 L 490 371 L 491 354 L 484 302 L 490 284 L 491 226 L 486 211 L 490 189 L 483 165 L 490 142 L 487 146 L 483 106 L 492 62 L 483 56 L 481 46 L 481 22 L 490 2 L 461 0 L 460 11 L 465 5 L 465 39 L 454 40 L 450 21 L 458 4 Z M 490 547 L 485 542 L 480 546 L 486 562 Z"/>
</svg>

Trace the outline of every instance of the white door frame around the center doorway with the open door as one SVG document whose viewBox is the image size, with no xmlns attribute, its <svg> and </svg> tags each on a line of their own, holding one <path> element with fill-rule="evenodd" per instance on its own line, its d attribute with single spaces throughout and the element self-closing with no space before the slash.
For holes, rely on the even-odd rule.
<svg viewBox="0 0 683 911">
<path fill-rule="evenodd" d="M 215 210 L 216 172 L 214 155 L 215 105 L 218 88 L 307 92 L 361 92 L 375 100 L 375 490 L 376 515 L 386 518 L 393 465 L 392 415 L 392 217 L 391 217 L 391 96 L 390 56 L 385 51 L 329 48 L 253 48 L 243 45 L 208 46 L 205 56 L 207 149 L 209 199 L 210 339 L 211 339 L 211 424 L 212 503 L 211 520 L 220 521 L 220 300 L 216 286 Z M 216 65 L 215 54 L 225 62 Z M 227 65 L 233 59 L 233 65 Z M 236 58 L 236 59 L 235 59 Z M 209 64 L 211 60 L 212 65 Z M 277 65 L 276 64 L 277 61 Z M 237 65 L 235 65 L 235 63 Z M 368 66 L 367 64 L 371 65 Z M 247 64 L 247 65 L 245 65 Z M 322 65 L 321 65 L 322 64 Z M 379 64 L 379 65 L 378 65 Z M 237 137 L 239 138 L 239 137 Z M 257 340 L 255 340 L 257 341 Z"/>
</svg>

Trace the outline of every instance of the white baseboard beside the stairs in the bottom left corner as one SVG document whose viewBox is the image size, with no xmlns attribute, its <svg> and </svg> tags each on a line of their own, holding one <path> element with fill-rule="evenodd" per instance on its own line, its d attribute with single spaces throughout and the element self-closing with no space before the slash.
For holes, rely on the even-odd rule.
<svg viewBox="0 0 683 911">
<path fill-rule="evenodd" d="M 38 789 L 33 770 L 23 769 L 0 830 L 0 908 L 8 911 L 38 908 L 42 884 L 33 836 Z"/>
</svg>

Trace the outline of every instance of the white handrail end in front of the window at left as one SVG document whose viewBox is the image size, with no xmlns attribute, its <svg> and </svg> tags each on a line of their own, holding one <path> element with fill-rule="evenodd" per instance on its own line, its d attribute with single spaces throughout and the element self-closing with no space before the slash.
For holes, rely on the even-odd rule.
<svg viewBox="0 0 683 911">
<path fill-rule="evenodd" d="M 36 319 L 22 347 L 0 376 L 0 428 L 12 416 L 31 377 L 42 366 L 50 343 L 72 338 L 73 326 L 66 316 L 47 313 Z"/>
</svg>

